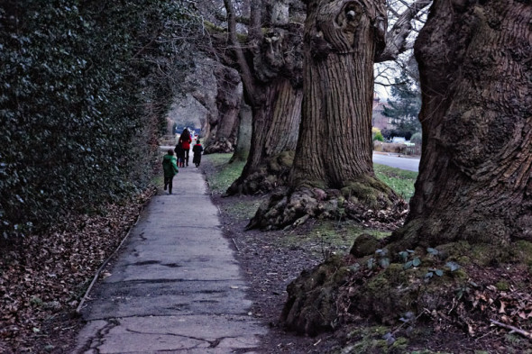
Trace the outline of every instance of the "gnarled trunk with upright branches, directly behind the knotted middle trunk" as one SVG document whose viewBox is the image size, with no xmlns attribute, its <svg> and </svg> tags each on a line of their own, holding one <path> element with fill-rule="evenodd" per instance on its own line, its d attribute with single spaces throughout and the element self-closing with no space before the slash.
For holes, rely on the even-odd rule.
<svg viewBox="0 0 532 354">
<path fill-rule="evenodd" d="M 298 140 L 302 100 L 301 25 L 289 23 L 287 1 L 276 1 L 269 6 L 253 0 L 251 5 L 247 56 L 236 41 L 234 24 L 229 26 L 229 39 L 241 68 L 253 124 L 246 166 L 227 189 L 227 195 L 266 193 L 285 184 Z M 271 25 L 264 33 L 260 27 L 262 7 L 275 13 L 263 23 Z M 229 23 L 234 23 L 230 1 L 225 0 L 225 8 Z"/>
</svg>

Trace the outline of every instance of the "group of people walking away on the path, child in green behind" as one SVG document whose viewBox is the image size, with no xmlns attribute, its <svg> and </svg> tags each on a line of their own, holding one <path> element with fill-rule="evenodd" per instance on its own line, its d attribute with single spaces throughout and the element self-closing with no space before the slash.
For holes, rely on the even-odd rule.
<svg viewBox="0 0 532 354">
<path fill-rule="evenodd" d="M 162 169 L 164 171 L 164 190 L 168 189 L 169 194 L 172 194 L 172 181 L 174 176 L 179 173 L 179 168 L 188 166 L 188 154 L 190 152 L 190 144 L 192 143 L 192 137 L 188 129 L 184 129 L 179 136 L 178 144 L 175 149 L 168 150 L 167 154 L 162 158 Z M 174 152 L 177 156 L 174 156 Z M 192 148 L 194 152 L 194 158 L 192 163 L 199 167 L 201 163 L 201 153 L 203 152 L 203 146 L 201 141 L 197 139 L 196 144 Z"/>
</svg>

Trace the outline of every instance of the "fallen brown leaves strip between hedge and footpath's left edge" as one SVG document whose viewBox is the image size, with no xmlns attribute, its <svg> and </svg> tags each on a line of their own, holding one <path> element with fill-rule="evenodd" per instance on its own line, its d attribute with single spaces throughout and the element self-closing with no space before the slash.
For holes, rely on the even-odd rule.
<svg viewBox="0 0 532 354">
<path fill-rule="evenodd" d="M 32 342 L 47 335 L 46 322 L 74 312 L 153 193 L 109 204 L 105 215 L 70 217 L 58 225 L 63 231 L 27 236 L 0 250 L 0 351 L 34 351 Z"/>
</svg>

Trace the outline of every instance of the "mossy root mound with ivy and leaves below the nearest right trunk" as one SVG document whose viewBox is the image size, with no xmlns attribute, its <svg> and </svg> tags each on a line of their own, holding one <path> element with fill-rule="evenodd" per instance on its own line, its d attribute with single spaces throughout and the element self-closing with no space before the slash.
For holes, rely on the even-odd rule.
<svg viewBox="0 0 532 354">
<path fill-rule="evenodd" d="M 386 242 L 362 234 L 351 254 L 304 271 L 287 288 L 287 329 L 316 335 L 363 319 L 387 326 L 393 340 L 427 328 L 481 335 L 491 320 L 532 329 L 532 242 L 501 248 L 460 241 L 396 253 Z"/>
</svg>

